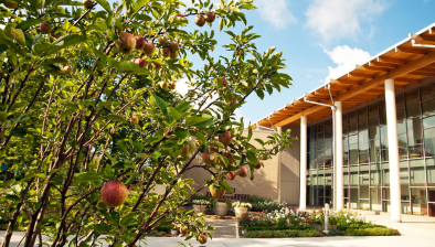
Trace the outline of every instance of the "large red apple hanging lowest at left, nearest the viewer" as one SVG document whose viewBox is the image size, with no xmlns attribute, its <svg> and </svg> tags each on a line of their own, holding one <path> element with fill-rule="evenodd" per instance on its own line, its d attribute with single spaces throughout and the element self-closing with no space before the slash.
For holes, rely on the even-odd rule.
<svg viewBox="0 0 435 247">
<path fill-rule="evenodd" d="M 106 206 L 120 206 L 127 200 L 128 190 L 121 183 L 109 181 L 103 185 L 100 196 Z"/>
</svg>

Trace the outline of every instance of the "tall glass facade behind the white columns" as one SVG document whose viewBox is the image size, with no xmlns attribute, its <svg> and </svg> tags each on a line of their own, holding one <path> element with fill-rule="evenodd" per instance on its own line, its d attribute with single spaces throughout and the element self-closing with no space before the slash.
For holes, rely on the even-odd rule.
<svg viewBox="0 0 435 247">
<path fill-rule="evenodd" d="M 395 100 L 402 213 L 435 217 L 435 83 L 401 93 Z M 344 207 L 390 212 L 385 101 L 342 118 Z M 309 126 L 307 133 L 307 204 L 331 203 L 331 119 Z"/>
</svg>

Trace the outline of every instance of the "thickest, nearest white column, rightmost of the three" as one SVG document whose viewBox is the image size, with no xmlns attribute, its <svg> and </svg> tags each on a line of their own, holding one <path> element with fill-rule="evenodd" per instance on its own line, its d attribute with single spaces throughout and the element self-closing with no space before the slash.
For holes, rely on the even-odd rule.
<svg viewBox="0 0 435 247">
<path fill-rule="evenodd" d="M 385 109 L 386 128 L 389 133 L 391 221 L 402 222 L 394 79 L 385 79 Z"/>
</svg>

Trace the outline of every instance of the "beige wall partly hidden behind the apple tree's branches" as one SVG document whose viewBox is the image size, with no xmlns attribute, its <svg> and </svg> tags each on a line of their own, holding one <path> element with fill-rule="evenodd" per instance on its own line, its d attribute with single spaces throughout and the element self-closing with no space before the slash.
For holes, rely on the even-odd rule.
<svg viewBox="0 0 435 247">
<path fill-rule="evenodd" d="M 267 140 L 267 136 L 270 136 L 269 131 L 253 131 L 253 137 L 251 140 L 251 144 L 256 148 L 261 148 L 261 144 L 255 141 L 255 138 L 262 139 L 264 141 Z M 247 136 L 247 131 L 244 131 L 244 136 Z M 268 197 L 272 200 L 278 198 L 278 155 L 273 157 L 270 160 L 266 160 L 263 162 L 264 168 L 254 171 L 254 180 L 250 179 L 250 168 L 246 165 L 245 168 L 248 170 L 248 176 L 240 178 L 236 176 L 235 180 L 229 181 L 229 185 L 235 189 L 236 194 L 250 194 L 250 195 L 258 195 L 262 197 Z M 195 163 L 198 164 L 198 163 Z M 190 178 L 195 181 L 194 187 L 198 190 L 204 184 L 204 180 L 209 180 L 211 174 L 201 168 L 194 168 L 184 173 L 184 178 Z M 204 189 L 200 194 L 205 194 L 209 192 L 209 189 Z"/>
</svg>

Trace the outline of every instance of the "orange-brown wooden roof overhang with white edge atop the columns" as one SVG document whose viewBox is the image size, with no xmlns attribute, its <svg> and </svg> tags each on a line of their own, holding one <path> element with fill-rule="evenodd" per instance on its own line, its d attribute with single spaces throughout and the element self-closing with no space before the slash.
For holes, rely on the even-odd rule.
<svg viewBox="0 0 435 247">
<path fill-rule="evenodd" d="M 418 84 L 424 77 L 435 77 L 435 23 L 410 34 L 341 77 L 274 110 L 252 127 L 299 125 L 301 116 L 307 116 L 308 122 L 312 122 L 332 114 L 330 107 L 314 105 L 304 98 L 331 105 L 332 96 L 333 101 L 341 101 L 346 110 L 384 95 L 384 80 L 388 78 L 393 78 L 395 88 L 402 89 L 409 84 Z"/>
</svg>

